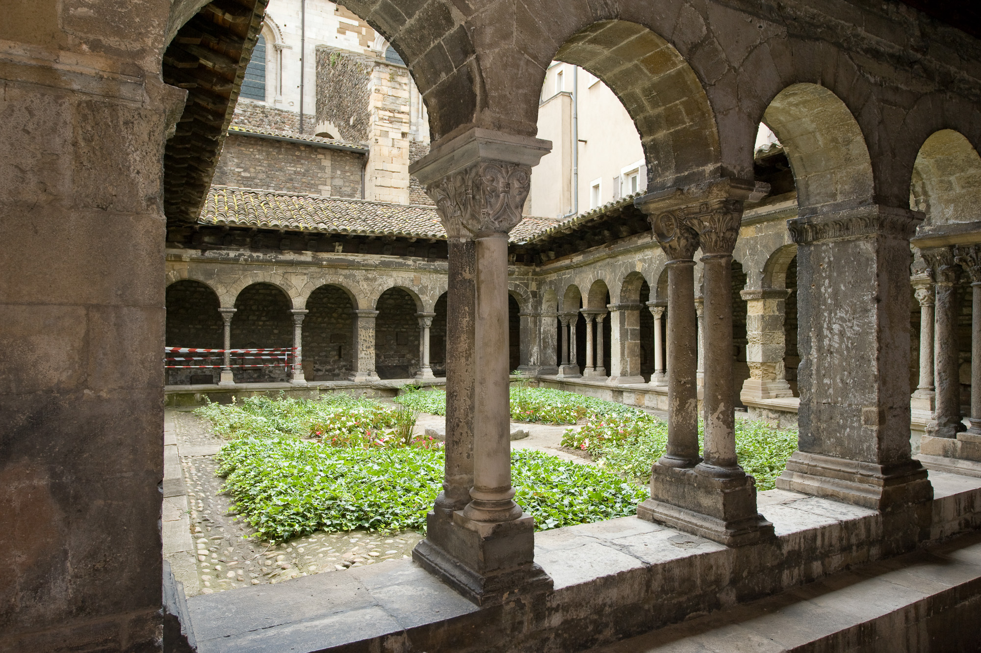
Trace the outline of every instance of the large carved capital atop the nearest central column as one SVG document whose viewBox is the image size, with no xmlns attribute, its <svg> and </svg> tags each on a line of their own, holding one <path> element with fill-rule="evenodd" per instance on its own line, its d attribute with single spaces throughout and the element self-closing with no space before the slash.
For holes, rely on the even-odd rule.
<svg viewBox="0 0 981 653">
<path fill-rule="evenodd" d="M 475 127 L 433 143 L 409 167 L 426 185 L 450 238 L 507 233 L 519 222 L 532 167 L 551 142 Z"/>
</svg>

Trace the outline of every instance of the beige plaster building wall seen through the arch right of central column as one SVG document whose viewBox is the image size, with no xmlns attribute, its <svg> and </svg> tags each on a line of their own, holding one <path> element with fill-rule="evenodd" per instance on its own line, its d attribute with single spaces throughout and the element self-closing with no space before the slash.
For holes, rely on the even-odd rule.
<svg viewBox="0 0 981 653">
<path fill-rule="evenodd" d="M 588 71 L 553 62 L 545 75 L 539 109 L 539 138 L 551 140 L 552 151 L 532 173 L 531 206 L 525 210 L 529 215 L 552 217 L 572 210 L 566 188 L 572 186 L 573 75 L 579 80 L 579 213 L 646 187 L 641 137 L 620 100 Z M 594 185 L 599 186 L 598 193 Z"/>
</svg>

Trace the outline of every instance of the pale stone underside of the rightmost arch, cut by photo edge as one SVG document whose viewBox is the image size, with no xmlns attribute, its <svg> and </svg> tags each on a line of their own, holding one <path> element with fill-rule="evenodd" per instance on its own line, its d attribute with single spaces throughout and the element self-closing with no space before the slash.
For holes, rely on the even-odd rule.
<svg viewBox="0 0 981 653">
<path fill-rule="evenodd" d="M 913 163 L 909 207 L 926 214 L 925 225 L 970 223 L 981 205 L 981 157 L 955 129 L 934 131 Z"/>
</svg>

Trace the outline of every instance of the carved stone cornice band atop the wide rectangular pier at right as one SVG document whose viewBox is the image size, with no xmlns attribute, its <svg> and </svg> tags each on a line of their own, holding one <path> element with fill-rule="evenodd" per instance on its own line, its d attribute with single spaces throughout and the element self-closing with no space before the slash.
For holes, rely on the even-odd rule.
<svg viewBox="0 0 981 653">
<path fill-rule="evenodd" d="M 787 227 L 798 244 L 879 235 L 907 240 L 922 219 L 916 211 L 872 205 L 796 218 Z"/>
</svg>

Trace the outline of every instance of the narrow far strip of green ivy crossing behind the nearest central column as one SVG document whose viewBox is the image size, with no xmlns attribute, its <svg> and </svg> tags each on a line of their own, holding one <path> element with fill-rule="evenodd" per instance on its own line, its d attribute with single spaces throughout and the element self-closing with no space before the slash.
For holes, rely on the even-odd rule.
<svg viewBox="0 0 981 653">
<path fill-rule="evenodd" d="M 443 390 L 408 392 L 396 397 L 395 401 L 424 413 L 446 414 L 446 392 Z M 511 419 L 515 422 L 576 424 L 594 415 L 635 413 L 645 415 L 636 408 L 575 392 L 524 385 L 511 387 Z"/>
</svg>

